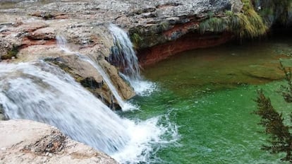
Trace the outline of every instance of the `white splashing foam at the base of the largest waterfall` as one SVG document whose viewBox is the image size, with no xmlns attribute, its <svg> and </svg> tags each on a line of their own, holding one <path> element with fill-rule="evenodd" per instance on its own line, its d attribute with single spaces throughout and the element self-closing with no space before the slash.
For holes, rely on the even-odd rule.
<svg viewBox="0 0 292 164">
<path fill-rule="evenodd" d="M 155 156 L 161 148 L 179 146 L 178 127 L 171 123 L 169 114 L 153 117 L 142 122 L 128 122 L 130 141 L 121 151 L 111 156 L 119 163 L 162 163 Z"/>
</svg>

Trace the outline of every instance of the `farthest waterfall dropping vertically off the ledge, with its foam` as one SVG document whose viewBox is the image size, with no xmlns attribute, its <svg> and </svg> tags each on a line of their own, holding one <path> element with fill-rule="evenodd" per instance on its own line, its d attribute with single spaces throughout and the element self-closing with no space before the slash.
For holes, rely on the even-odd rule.
<svg viewBox="0 0 292 164">
<path fill-rule="evenodd" d="M 154 83 L 145 81 L 140 76 L 138 57 L 127 33 L 113 24 L 109 25 L 109 30 L 114 39 L 109 62 L 119 68 L 121 76 L 130 83 L 135 93 L 149 95 L 155 89 Z"/>
</svg>

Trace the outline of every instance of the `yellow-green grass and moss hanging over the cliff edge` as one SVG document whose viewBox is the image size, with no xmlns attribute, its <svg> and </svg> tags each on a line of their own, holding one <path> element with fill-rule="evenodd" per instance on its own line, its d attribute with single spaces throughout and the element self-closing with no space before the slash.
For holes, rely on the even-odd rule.
<svg viewBox="0 0 292 164">
<path fill-rule="evenodd" d="M 224 16 L 209 14 L 209 17 L 199 24 L 200 33 L 228 31 L 240 38 L 259 37 L 267 33 L 274 23 L 286 25 L 292 13 L 291 0 L 241 1 L 241 12 L 226 11 Z"/>
</svg>

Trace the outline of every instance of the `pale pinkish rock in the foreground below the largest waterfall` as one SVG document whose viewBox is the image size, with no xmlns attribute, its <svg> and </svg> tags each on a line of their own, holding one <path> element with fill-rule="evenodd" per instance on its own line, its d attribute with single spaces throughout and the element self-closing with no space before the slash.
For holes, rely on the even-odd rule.
<svg viewBox="0 0 292 164">
<path fill-rule="evenodd" d="M 58 129 L 29 120 L 0 121 L 0 163 L 116 163 Z"/>
</svg>

